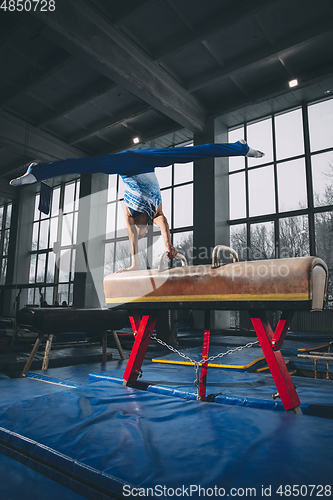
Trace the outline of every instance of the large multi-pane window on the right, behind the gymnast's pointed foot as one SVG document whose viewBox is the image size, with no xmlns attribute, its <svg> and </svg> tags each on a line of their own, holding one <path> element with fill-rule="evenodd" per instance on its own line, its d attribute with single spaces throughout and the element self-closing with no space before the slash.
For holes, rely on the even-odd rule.
<svg viewBox="0 0 333 500">
<path fill-rule="evenodd" d="M 229 131 L 265 152 L 229 159 L 230 244 L 241 259 L 318 255 L 332 275 L 332 122 L 333 99 Z"/>
</svg>

